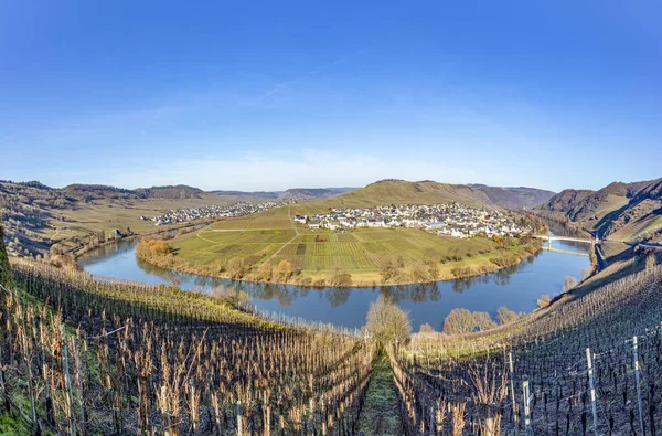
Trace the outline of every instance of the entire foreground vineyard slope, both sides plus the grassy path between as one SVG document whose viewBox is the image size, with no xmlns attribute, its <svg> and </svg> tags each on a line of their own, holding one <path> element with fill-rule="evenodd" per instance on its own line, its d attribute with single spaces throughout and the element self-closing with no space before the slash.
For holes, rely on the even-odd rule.
<svg viewBox="0 0 662 436">
<path fill-rule="evenodd" d="M 222 297 L 0 266 L 10 434 L 656 435 L 662 423 L 662 266 L 463 337 L 386 343 L 387 316 L 377 345 Z"/>
</svg>

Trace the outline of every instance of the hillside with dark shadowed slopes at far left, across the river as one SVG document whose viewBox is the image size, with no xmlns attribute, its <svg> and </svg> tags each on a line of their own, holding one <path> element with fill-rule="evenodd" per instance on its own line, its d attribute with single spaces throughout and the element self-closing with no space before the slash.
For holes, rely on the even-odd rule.
<svg viewBox="0 0 662 436">
<path fill-rule="evenodd" d="M 53 246 L 67 252 L 115 228 L 152 231 L 153 223 L 141 215 L 236 201 L 184 185 L 127 190 L 71 184 L 56 189 L 34 181 L 0 181 L 0 220 L 7 223 L 6 240 L 14 255 L 44 256 Z"/>
</svg>

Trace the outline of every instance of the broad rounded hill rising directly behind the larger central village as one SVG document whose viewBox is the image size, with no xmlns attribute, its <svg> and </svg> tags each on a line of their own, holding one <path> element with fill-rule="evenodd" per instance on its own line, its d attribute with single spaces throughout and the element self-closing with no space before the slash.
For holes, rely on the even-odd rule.
<svg viewBox="0 0 662 436">
<path fill-rule="evenodd" d="M 473 208 L 522 209 L 546 201 L 551 191 L 532 188 L 496 188 L 434 181 L 381 180 L 320 203 L 322 206 L 360 208 L 384 204 L 458 202 Z"/>
</svg>

